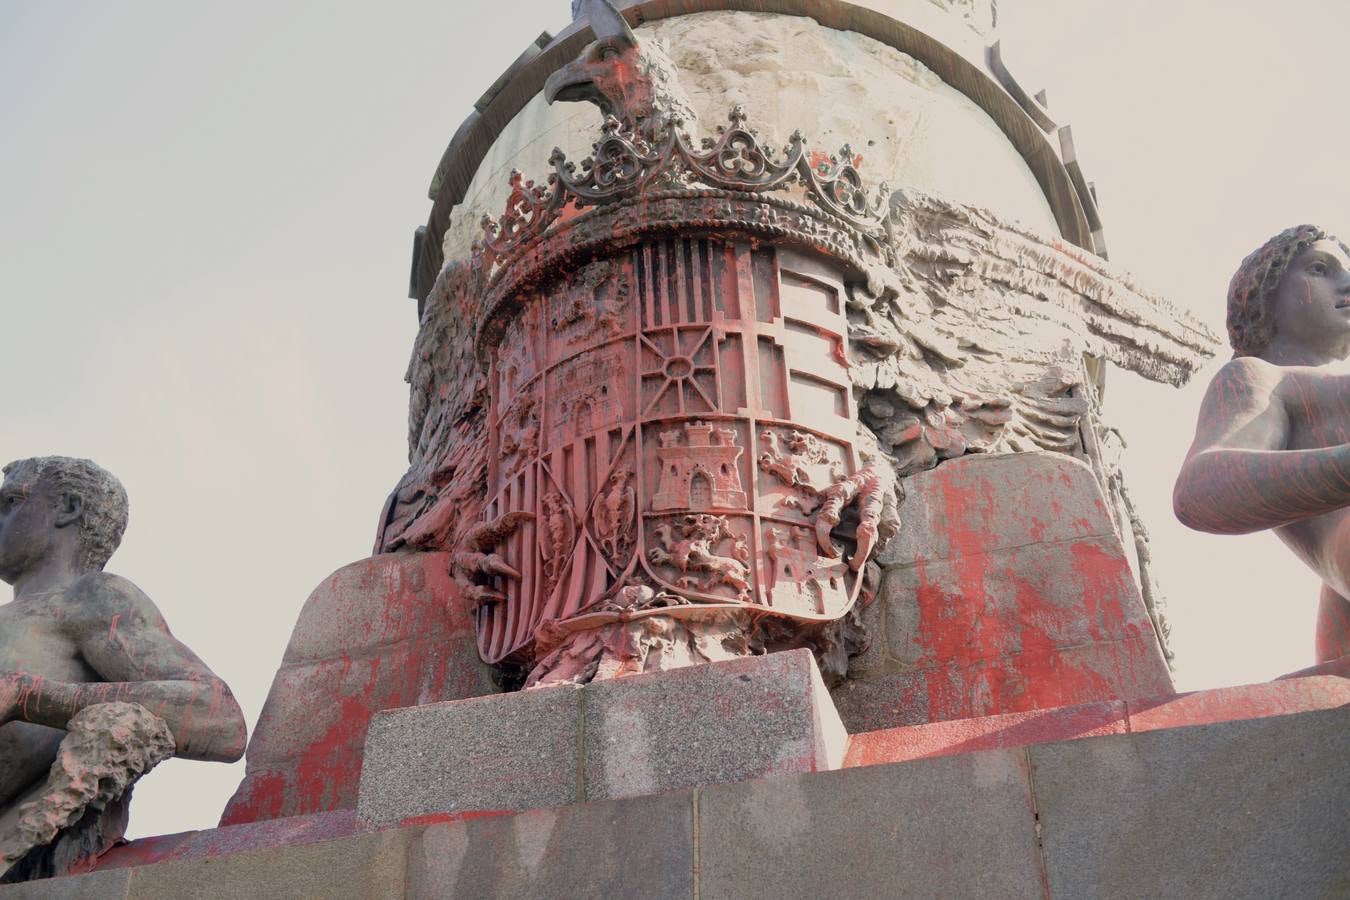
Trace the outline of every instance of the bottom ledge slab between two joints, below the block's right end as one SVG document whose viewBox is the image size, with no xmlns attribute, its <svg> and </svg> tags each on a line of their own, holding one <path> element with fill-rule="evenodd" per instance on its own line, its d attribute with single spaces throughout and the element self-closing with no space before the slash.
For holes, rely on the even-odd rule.
<svg viewBox="0 0 1350 900">
<path fill-rule="evenodd" d="M 1031 810 L 1019 750 L 705 788 L 699 896 L 1041 896 Z"/>
</svg>

